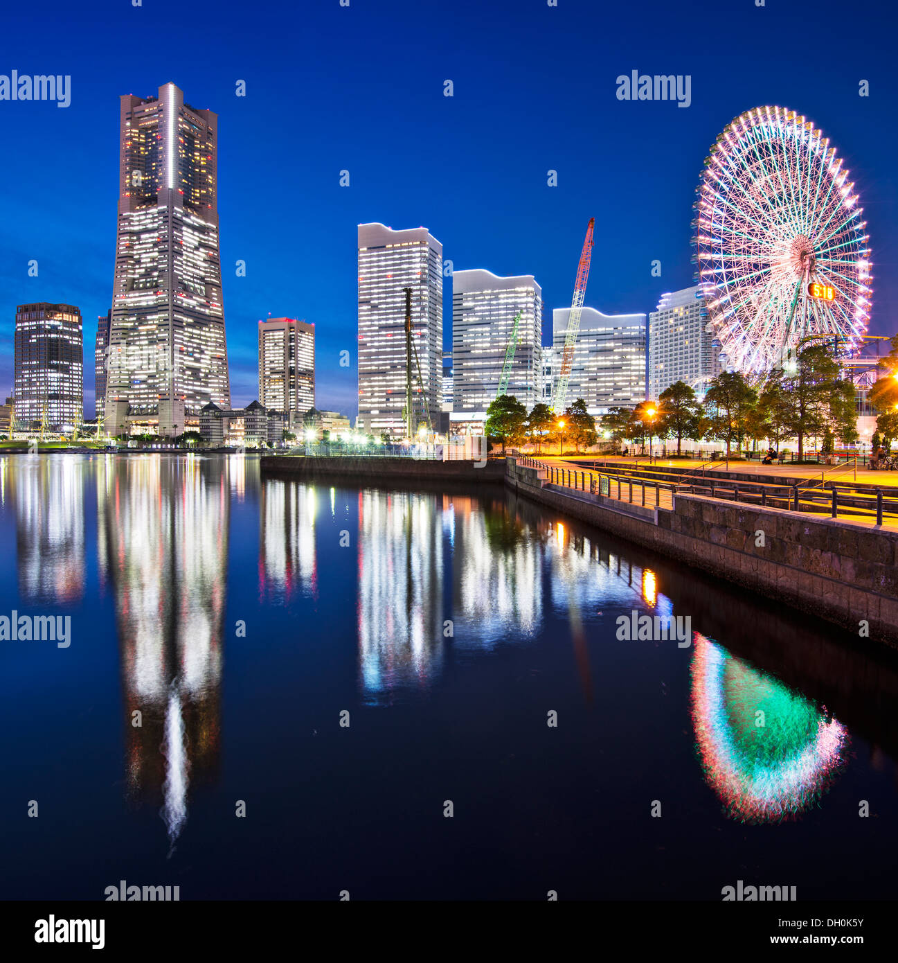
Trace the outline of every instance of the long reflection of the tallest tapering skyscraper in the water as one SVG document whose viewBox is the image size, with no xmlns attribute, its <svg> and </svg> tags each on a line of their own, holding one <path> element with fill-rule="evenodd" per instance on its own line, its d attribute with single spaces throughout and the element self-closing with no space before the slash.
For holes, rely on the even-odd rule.
<svg viewBox="0 0 898 963">
<path fill-rule="evenodd" d="M 128 795 L 161 805 L 173 847 L 191 784 L 218 769 L 232 484 L 223 459 L 107 457 L 101 563 L 115 594 Z M 133 724 L 135 714 L 141 726 Z"/>
</svg>

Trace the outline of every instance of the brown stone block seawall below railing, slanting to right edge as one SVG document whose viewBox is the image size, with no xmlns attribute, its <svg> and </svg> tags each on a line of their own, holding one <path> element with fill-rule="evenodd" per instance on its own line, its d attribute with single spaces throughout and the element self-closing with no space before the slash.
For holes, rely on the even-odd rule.
<svg viewBox="0 0 898 963">
<path fill-rule="evenodd" d="M 678 495 L 641 509 L 550 485 L 541 469 L 507 460 L 522 495 L 662 555 L 898 646 L 898 531 L 783 508 Z M 615 505 L 609 507 L 608 503 Z"/>
</svg>

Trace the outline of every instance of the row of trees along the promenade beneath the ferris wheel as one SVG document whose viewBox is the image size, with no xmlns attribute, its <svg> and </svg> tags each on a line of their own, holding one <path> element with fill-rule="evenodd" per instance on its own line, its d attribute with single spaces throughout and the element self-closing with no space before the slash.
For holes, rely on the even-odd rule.
<svg viewBox="0 0 898 963">
<path fill-rule="evenodd" d="M 739 448 L 747 441 L 757 445 L 766 438 L 779 449 L 785 438 L 798 439 L 799 460 L 810 438 L 821 439 L 821 450 L 832 452 L 858 440 L 855 386 L 842 377 L 841 367 L 828 345 L 806 344 L 792 365 L 764 378 L 724 372 L 711 379 L 702 402 L 684 381 L 667 388 L 658 402 L 635 409 L 613 408 L 602 419 L 603 429 L 616 439 L 648 435 L 676 438 L 677 453 L 683 439 L 716 439 Z"/>
</svg>

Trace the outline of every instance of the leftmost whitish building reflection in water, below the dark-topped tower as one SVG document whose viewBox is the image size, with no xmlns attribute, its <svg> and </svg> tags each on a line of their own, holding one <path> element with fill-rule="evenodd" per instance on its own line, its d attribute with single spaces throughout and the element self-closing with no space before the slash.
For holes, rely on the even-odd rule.
<svg viewBox="0 0 898 963">
<path fill-rule="evenodd" d="M 18 587 L 28 602 L 71 603 L 84 595 L 84 488 L 79 455 L 16 455 L 10 475 L 15 503 Z"/>
</svg>

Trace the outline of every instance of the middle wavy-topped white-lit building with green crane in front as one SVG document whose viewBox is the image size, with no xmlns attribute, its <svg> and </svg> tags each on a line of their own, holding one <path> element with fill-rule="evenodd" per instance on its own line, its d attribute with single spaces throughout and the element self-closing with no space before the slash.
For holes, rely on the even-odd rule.
<svg viewBox="0 0 898 963">
<path fill-rule="evenodd" d="M 482 415 L 496 398 L 505 352 L 520 313 L 505 391 L 526 407 L 539 401 L 543 292 L 532 274 L 498 277 L 475 269 L 452 273 L 452 412 Z"/>
</svg>

